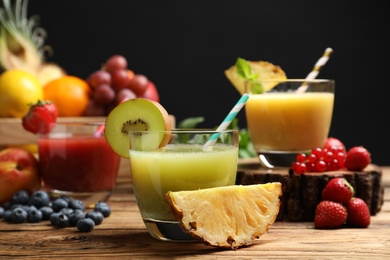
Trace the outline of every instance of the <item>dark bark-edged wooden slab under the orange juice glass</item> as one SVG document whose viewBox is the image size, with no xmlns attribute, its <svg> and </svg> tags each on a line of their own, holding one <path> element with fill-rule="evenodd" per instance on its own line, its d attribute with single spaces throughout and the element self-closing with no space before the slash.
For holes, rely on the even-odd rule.
<svg viewBox="0 0 390 260">
<path fill-rule="evenodd" d="M 238 167 L 237 184 L 281 182 L 283 196 L 277 220 L 313 221 L 321 192 L 334 177 L 344 177 L 355 189 L 355 197 L 363 199 L 376 215 L 384 202 L 381 167 L 371 164 L 362 172 L 332 171 L 296 174 L 289 168 L 266 169 L 256 161 L 243 162 Z"/>
</svg>

